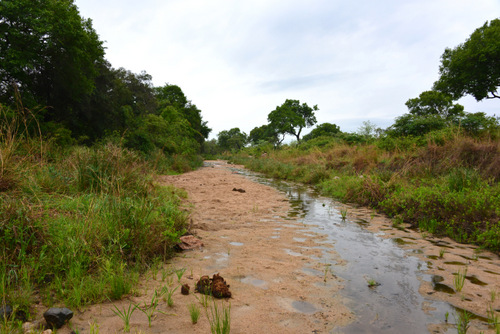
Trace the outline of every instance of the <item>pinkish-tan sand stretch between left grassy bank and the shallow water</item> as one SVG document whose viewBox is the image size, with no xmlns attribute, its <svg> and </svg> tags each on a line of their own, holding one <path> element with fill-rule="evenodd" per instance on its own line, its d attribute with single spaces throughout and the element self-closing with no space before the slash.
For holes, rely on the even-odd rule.
<svg viewBox="0 0 500 334">
<path fill-rule="evenodd" d="M 337 295 L 342 283 L 331 273 L 326 282 L 321 275 L 325 271 L 317 259 L 321 236 L 287 218 L 289 202 L 284 194 L 229 167 L 217 162 L 212 168 L 161 177 L 160 182 L 187 191 L 192 232 L 204 243 L 202 249 L 181 253 L 165 268 L 186 268 L 181 283 L 189 284 L 191 291 L 200 276 L 220 273 L 232 292 L 231 333 L 328 333 L 349 323 L 353 315 Z M 177 277 L 172 277 L 177 286 Z M 158 273 L 156 280 L 144 280 L 134 296 L 115 304 L 122 309 L 150 302 L 154 289 L 167 281 Z M 131 333 L 210 333 L 203 312 L 199 322 L 191 324 L 190 303 L 198 303 L 196 296 L 181 295 L 178 289 L 173 307 L 160 302 L 158 309 L 166 314 L 157 313 L 151 327 L 146 315 L 135 311 Z M 88 332 L 94 322 L 100 333 L 122 332 L 123 321 L 111 309 L 112 304 L 92 306 L 76 315 L 72 325 Z"/>
</svg>

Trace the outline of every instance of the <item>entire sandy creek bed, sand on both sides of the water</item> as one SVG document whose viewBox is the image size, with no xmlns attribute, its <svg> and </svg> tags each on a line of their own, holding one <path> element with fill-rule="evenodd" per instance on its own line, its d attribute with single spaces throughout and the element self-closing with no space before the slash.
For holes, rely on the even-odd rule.
<svg viewBox="0 0 500 334">
<path fill-rule="evenodd" d="M 291 205 L 284 193 L 251 181 L 235 172 L 234 167 L 221 161 L 210 162 L 194 172 L 160 178 L 161 183 L 187 191 L 192 232 L 204 243 L 202 249 L 180 253 L 165 268 L 186 268 L 181 283 L 189 284 L 191 290 L 201 275 L 220 273 L 230 284 L 233 295 L 228 300 L 231 333 L 343 333 L 344 328 L 349 328 L 345 326 L 356 322 L 354 311 L 346 306 L 347 300 L 342 295 L 348 282 L 335 274 L 336 266 L 346 266 L 346 260 L 337 254 L 333 244 L 325 243 L 327 237 L 320 230 L 309 228 L 300 218 L 290 218 Z M 234 188 L 245 192 L 233 191 Z M 434 306 L 429 302 L 432 300 L 445 301 L 483 317 L 487 317 L 490 304 L 493 309 L 500 309 L 500 296 L 491 303 L 492 291 L 500 293 L 500 260 L 496 255 L 478 253 L 474 247 L 457 245 L 451 240 L 423 239 L 416 231 L 393 228 L 389 219 L 366 209 L 349 208 L 349 219 L 368 222 L 365 230 L 381 238 L 395 239 L 398 247 L 426 263 L 422 277 L 428 279 L 420 279 L 420 294 L 426 299 L 422 303 L 425 312 L 433 311 Z M 440 249 L 445 249 L 442 259 L 436 256 Z M 334 266 L 321 260 L 324 254 L 328 254 Z M 467 276 L 475 277 L 483 285 L 468 280 L 462 293 L 442 288 L 440 284 L 453 287 L 453 274 L 464 265 L 468 268 Z M 142 280 L 133 295 L 114 304 L 122 309 L 130 303 L 151 301 L 154 289 L 166 285 L 161 274 L 156 279 L 151 276 Z M 430 278 L 438 276 L 440 282 L 436 286 Z M 173 277 L 177 282 L 177 277 Z M 376 293 L 367 286 L 362 289 L 362 293 Z M 187 306 L 193 302 L 197 302 L 193 294 L 184 296 L 178 289 L 173 307 L 160 302 L 158 309 L 165 314 L 157 313 L 151 327 L 143 313 L 134 312 L 131 333 L 210 333 L 203 312 L 199 322 L 191 324 Z M 123 322 L 112 312 L 112 307 L 113 304 L 106 303 L 75 312 L 71 325 L 80 333 L 88 333 L 90 323 L 98 324 L 100 333 L 121 333 Z M 377 317 L 378 313 L 362 332 L 394 332 L 382 331 L 375 325 L 370 330 L 370 323 L 375 324 Z M 450 315 L 450 322 L 453 320 Z M 474 320 L 469 333 L 493 333 L 484 322 L 481 318 Z M 444 324 L 444 316 L 442 323 L 429 324 L 427 328 L 433 333 L 456 332 L 451 325 Z M 58 331 L 69 332 L 67 326 Z"/>
</svg>

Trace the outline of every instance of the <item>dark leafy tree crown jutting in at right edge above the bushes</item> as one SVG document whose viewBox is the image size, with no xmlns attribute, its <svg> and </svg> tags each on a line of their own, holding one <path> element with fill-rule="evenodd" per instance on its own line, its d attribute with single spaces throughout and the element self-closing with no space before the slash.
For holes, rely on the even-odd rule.
<svg viewBox="0 0 500 334">
<path fill-rule="evenodd" d="M 500 19 L 486 22 L 456 48 L 447 48 L 439 72 L 434 89 L 454 99 L 466 94 L 478 101 L 500 98 Z"/>
</svg>

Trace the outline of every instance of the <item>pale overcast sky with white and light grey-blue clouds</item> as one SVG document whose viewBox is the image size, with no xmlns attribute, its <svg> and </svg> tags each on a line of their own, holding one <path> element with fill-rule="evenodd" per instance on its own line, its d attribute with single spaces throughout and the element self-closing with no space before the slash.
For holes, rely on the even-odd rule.
<svg viewBox="0 0 500 334">
<path fill-rule="evenodd" d="M 113 67 L 182 88 L 213 129 L 249 133 L 286 99 L 318 123 L 386 128 L 438 78 L 446 47 L 500 17 L 498 0 L 75 0 Z M 500 101 L 459 101 L 499 115 Z M 307 131 L 306 131 L 307 132 Z"/>
</svg>

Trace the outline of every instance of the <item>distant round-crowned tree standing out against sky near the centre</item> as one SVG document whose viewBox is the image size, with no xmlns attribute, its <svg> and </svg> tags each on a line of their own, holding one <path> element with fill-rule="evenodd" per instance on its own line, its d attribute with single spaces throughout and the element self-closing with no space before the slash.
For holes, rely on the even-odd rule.
<svg viewBox="0 0 500 334">
<path fill-rule="evenodd" d="M 318 106 L 309 107 L 306 103 L 300 104 L 298 100 L 286 100 L 281 106 L 276 107 L 267 116 L 269 126 L 278 135 L 283 137 L 278 141 L 280 144 L 286 134 L 293 135 L 300 142 L 300 133 L 305 127 L 311 127 L 316 124 L 314 111 Z"/>
</svg>

